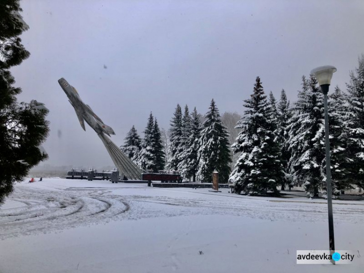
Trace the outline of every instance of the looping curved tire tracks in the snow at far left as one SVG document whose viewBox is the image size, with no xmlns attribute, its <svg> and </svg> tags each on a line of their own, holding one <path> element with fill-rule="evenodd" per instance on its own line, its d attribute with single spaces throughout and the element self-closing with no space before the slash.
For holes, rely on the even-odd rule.
<svg viewBox="0 0 364 273">
<path fill-rule="evenodd" d="M 29 205 L 0 210 L 0 239 L 109 222 L 123 218 L 122 214 L 130 210 L 127 202 L 119 200 L 120 196 L 104 191 L 88 195 L 19 188 L 12 195 Z"/>
</svg>

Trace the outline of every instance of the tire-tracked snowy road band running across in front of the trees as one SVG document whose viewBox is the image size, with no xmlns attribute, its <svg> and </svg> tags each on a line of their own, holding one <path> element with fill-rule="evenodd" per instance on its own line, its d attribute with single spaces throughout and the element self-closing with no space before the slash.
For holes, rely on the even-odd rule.
<svg viewBox="0 0 364 273">
<path fill-rule="evenodd" d="M 10 200 L 22 202 L 25 206 L 0 210 L 0 238 L 54 232 L 125 218 L 232 215 L 282 222 L 327 219 L 325 202 L 262 200 L 236 195 L 221 197 L 196 190 L 189 192 L 191 196 L 185 198 L 166 196 L 176 192 L 173 189 L 165 191 L 127 186 L 120 189 L 132 189 L 133 193 L 148 190 L 153 195 L 124 195 L 119 190 L 112 193 L 112 189 L 115 190 L 112 187 L 47 187 L 52 190 L 30 188 L 28 185 L 16 188 Z M 364 222 L 364 204 L 354 204 L 335 204 L 335 220 Z"/>
</svg>

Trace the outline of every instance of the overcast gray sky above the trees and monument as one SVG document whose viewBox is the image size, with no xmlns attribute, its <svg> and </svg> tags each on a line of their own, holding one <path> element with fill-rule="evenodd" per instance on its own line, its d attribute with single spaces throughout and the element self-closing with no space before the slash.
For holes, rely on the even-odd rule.
<svg viewBox="0 0 364 273">
<path fill-rule="evenodd" d="M 14 68 L 19 101 L 50 110 L 47 164 L 112 165 L 102 142 L 76 114 L 57 80 L 116 132 L 121 145 L 149 112 L 169 128 L 177 103 L 205 114 L 242 113 L 256 76 L 277 99 L 296 100 L 301 76 L 336 66 L 345 89 L 364 53 L 363 0 L 22 0 L 31 57 Z M 104 66 L 106 68 L 104 68 Z"/>
</svg>

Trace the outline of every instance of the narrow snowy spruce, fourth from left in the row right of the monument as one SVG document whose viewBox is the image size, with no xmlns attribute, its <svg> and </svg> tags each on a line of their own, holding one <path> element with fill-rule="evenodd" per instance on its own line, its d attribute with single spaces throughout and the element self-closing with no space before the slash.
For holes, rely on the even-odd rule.
<svg viewBox="0 0 364 273">
<path fill-rule="evenodd" d="M 182 109 L 180 104 L 177 104 L 171 120 L 171 128 L 169 129 L 169 166 L 168 168 L 174 171 L 178 170 L 180 163 L 180 154 L 182 152 L 181 137 L 182 137 Z"/>
</svg>

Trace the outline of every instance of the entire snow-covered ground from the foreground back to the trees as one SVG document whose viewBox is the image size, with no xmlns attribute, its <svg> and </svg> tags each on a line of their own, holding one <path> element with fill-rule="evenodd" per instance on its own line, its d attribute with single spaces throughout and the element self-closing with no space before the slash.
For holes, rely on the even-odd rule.
<svg viewBox="0 0 364 273">
<path fill-rule="evenodd" d="M 0 273 L 363 272 L 364 202 L 333 201 L 349 265 L 298 265 L 328 248 L 327 204 L 209 189 L 45 178 L 0 207 Z"/>
</svg>

